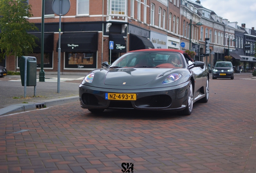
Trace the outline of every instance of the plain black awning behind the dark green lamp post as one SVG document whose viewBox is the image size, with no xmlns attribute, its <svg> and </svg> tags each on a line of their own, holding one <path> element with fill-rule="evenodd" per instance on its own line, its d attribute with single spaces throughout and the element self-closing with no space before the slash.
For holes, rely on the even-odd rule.
<svg viewBox="0 0 256 173">
<path fill-rule="evenodd" d="M 54 49 L 54 33 L 44 33 L 43 36 L 43 52 L 52 52 Z M 33 48 L 34 53 L 41 53 L 41 33 L 33 34 L 39 40 L 35 40 L 35 43 L 38 45 Z"/>
</svg>

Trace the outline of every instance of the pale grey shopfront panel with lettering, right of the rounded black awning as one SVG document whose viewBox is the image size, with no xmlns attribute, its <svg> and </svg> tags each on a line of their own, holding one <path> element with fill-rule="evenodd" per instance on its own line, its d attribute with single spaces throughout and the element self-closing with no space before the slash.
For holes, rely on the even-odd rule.
<svg viewBox="0 0 256 173">
<path fill-rule="evenodd" d="M 167 48 L 167 35 L 151 31 L 150 40 L 155 48 Z"/>
</svg>

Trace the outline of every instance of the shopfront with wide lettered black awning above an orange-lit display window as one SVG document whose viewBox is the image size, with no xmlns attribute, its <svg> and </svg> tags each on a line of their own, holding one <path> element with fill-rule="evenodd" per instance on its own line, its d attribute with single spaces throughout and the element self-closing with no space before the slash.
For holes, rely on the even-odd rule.
<svg viewBox="0 0 256 173">
<path fill-rule="evenodd" d="M 58 52 L 58 44 L 56 51 Z M 64 69 L 94 69 L 97 67 L 98 32 L 63 33 L 61 52 Z"/>
</svg>

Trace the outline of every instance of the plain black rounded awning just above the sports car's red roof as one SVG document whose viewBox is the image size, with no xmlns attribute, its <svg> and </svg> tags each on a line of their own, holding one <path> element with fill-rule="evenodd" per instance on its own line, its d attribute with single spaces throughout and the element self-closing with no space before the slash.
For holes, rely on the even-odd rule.
<svg viewBox="0 0 256 173">
<path fill-rule="evenodd" d="M 130 51 L 155 48 L 150 40 L 145 37 L 130 34 Z"/>
</svg>

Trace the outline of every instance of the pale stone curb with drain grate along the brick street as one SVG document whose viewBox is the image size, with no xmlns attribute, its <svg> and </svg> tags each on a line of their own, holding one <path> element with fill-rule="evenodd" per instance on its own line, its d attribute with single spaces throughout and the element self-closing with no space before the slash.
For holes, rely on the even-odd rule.
<svg viewBox="0 0 256 173">
<path fill-rule="evenodd" d="M 79 96 L 63 97 L 59 99 L 49 99 L 49 100 L 34 102 L 34 103 L 21 103 L 16 105 L 10 105 L 8 107 L 0 109 L 0 116 L 41 109 L 41 108 L 44 108 L 45 106 L 52 107 L 56 105 L 62 105 L 65 103 L 71 103 L 75 101 L 79 101 Z"/>
</svg>

